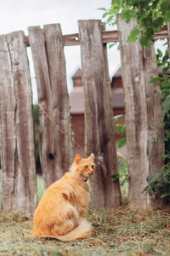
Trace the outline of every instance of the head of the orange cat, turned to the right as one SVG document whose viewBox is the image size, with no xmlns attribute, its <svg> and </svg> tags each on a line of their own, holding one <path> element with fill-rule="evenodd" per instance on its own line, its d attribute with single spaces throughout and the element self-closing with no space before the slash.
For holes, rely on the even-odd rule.
<svg viewBox="0 0 170 256">
<path fill-rule="evenodd" d="M 95 163 L 93 153 L 90 154 L 88 158 L 82 158 L 80 154 L 75 156 L 75 160 L 71 166 L 71 172 L 74 172 L 78 178 L 87 182 L 88 178 L 94 174 L 94 170 Z"/>
</svg>

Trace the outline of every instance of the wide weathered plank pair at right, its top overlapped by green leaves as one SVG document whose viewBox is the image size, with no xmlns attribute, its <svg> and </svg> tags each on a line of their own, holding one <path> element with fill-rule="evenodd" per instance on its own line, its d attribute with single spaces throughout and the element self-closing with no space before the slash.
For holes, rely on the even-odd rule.
<svg viewBox="0 0 170 256">
<path fill-rule="evenodd" d="M 129 206 L 133 209 L 155 207 L 156 201 L 142 191 L 146 177 L 156 173 L 163 164 L 163 128 L 156 128 L 161 119 L 161 90 L 159 84 L 150 84 L 156 77 L 157 64 L 154 46 L 143 48 L 139 41 L 126 43 L 130 32 L 137 28 L 135 20 L 126 23 L 117 18 L 122 57 L 122 80 L 125 91 L 127 124 L 127 161 L 130 174 Z"/>
</svg>

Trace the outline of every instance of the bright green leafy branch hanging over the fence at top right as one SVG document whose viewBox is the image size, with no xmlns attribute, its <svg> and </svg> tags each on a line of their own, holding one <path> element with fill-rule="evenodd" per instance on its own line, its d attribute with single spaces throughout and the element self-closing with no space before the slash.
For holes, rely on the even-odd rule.
<svg viewBox="0 0 170 256">
<path fill-rule="evenodd" d="M 150 48 L 154 41 L 155 32 L 159 32 L 166 22 L 170 22 L 169 0 L 113 0 L 110 9 L 104 11 L 103 18 L 110 25 L 116 24 L 116 15 L 121 14 L 122 20 L 127 23 L 135 18 L 139 30 L 134 29 L 127 42 L 134 42 L 139 38 L 140 44 Z"/>
</svg>

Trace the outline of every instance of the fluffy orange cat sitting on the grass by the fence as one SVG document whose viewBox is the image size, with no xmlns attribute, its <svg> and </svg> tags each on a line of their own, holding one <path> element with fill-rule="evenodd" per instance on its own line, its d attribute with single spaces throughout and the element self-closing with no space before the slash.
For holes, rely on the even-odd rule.
<svg viewBox="0 0 170 256">
<path fill-rule="evenodd" d="M 34 212 L 33 236 L 75 241 L 91 234 L 86 219 L 88 177 L 94 174 L 94 154 L 77 154 L 70 172 L 49 186 Z"/>
</svg>

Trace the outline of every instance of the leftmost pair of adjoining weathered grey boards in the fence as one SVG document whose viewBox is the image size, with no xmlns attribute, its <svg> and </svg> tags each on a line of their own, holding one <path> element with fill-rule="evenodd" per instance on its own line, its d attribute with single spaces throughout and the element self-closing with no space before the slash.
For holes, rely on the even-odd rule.
<svg viewBox="0 0 170 256">
<path fill-rule="evenodd" d="M 31 83 L 24 32 L 0 36 L 2 210 L 30 217 L 37 204 Z"/>
</svg>

